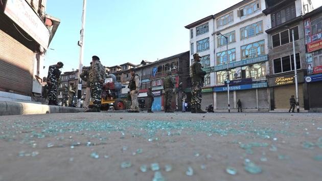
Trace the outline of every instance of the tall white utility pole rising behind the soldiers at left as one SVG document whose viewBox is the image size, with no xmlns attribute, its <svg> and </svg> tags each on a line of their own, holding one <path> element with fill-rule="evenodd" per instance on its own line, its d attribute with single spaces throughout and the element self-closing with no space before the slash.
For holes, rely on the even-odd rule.
<svg viewBox="0 0 322 181">
<path fill-rule="evenodd" d="M 80 78 L 80 74 L 82 73 L 83 58 L 84 58 L 85 17 L 86 17 L 86 0 L 83 0 L 82 29 L 80 31 L 80 41 L 78 41 L 78 46 L 80 47 L 80 52 L 79 52 L 79 65 L 78 65 L 77 107 L 81 107 L 81 96 L 82 96 L 82 79 Z"/>
</svg>

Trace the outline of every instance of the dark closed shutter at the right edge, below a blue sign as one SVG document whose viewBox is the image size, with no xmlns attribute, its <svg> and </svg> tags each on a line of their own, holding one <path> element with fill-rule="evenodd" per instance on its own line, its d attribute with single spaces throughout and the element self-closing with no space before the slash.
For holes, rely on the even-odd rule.
<svg viewBox="0 0 322 181">
<path fill-rule="evenodd" d="M 309 83 L 310 108 L 322 107 L 322 82 Z"/>
</svg>

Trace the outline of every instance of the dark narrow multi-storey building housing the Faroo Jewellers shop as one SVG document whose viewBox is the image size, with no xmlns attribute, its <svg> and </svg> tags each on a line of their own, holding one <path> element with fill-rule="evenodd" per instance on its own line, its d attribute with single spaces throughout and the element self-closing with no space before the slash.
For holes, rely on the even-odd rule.
<svg viewBox="0 0 322 181">
<path fill-rule="evenodd" d="M 312 11 L 310 0 L 266 1 L 263 11 L 270 17 L 268 34 L 270 110 L 289 108 L 289 98 L 295 95 L 293 41 L 298 74 L 298 98 L 301 108 L 308 109 L 306 46 L 303 15 Z M 294 40 L 292 38 L 294 32 Z"/>
</svg>

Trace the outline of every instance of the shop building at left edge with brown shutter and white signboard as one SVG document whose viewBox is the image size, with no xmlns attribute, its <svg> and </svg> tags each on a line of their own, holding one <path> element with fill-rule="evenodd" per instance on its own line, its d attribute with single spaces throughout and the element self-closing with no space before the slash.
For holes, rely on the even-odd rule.
<svg viewBox="0 0 322 181">
<path fill-rule="evenodd" d="M 41 97 L 44 54 L 60 22 L 48 15 L 45 8 L 45 0 L 1 1 L 2 101 L 39 101 Z"/>
</svg>

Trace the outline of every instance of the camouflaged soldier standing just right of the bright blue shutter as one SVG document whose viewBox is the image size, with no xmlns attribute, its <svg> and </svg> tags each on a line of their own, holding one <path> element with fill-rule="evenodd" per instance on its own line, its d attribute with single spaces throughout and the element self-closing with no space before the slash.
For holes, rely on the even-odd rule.
<svg viewBox="0 0 322 181">
<path fill-rule="evenodd" d="M 168 76 L 164 79 L 164 84 L 163 84 L 163 88 L 165 90 L 166 93 L 166 106 L 165 106 L 165 112 L 173 112 L 173 110 L 171 109 L 171 102 L 172 102 L 172 95 L 173 95 L 173 88 L 175 86 L 175 80 L 171 75 L 171 72 L 168 71 Z"/>
</svg>

